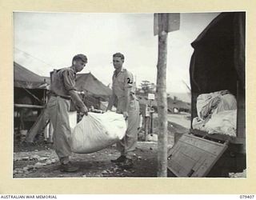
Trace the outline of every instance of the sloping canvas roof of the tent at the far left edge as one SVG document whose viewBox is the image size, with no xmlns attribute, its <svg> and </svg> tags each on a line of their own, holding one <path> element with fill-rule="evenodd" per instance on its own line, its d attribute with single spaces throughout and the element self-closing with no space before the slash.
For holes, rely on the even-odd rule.
<svg viewBox="0 0 256 200">
<path fill-rule="evenodd" d="M 24 87 L 28 89 L 42 88 L 44 79 L 35 74 L 34 72 L 27 70 L 24 66 L 14 62 L 14 86 Z"/>
</svg>

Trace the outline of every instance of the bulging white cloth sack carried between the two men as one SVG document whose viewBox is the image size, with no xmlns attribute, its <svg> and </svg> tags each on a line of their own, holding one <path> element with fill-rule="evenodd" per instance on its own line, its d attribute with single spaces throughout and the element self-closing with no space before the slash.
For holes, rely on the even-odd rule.
<svg viewBox="0 0 256 200">
<path fill-rule="evenodd" d="M 74 127 L 71 150 L 77 154 L 90 154 L 111 146 L 126 134 L 126 121 L 122 114 L 106 112 L 88 113 Z"/>
</svg>

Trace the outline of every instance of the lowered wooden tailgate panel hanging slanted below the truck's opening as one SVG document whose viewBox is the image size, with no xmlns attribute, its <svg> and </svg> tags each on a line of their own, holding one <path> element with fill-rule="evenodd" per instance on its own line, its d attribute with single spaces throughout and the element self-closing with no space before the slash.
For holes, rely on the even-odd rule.
<svg viewBox="0 0 256 200">
<path fill-rule="evenodd" d="M 227 147 L 228 142 L 183 134 L 168 152 L 168 169 L 178 177 L 205 177 Z"/>
</svg>

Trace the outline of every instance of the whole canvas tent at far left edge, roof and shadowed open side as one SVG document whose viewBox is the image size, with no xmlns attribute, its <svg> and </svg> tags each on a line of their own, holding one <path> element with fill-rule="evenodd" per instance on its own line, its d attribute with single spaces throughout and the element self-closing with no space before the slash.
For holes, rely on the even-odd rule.
<svg viewBox="0 0 256 200">
<path fill-rule="evenodd" d="M 14 127 L 29 129 L 46 102 L 44 78 L 14 62 Z"/>
</svg>

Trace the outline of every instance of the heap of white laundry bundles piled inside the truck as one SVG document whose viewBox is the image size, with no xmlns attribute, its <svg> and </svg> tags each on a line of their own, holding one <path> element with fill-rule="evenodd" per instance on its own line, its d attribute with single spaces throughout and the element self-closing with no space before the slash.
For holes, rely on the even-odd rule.
<svg viewBox="0 0 256 200">
<path fill-rule="evenodd" d="M 192 122 L 194 129 L 236 137 L 237 101 L 228 90 L 200 94 L 197 112 L 198 117 Z"/>
</svg>

